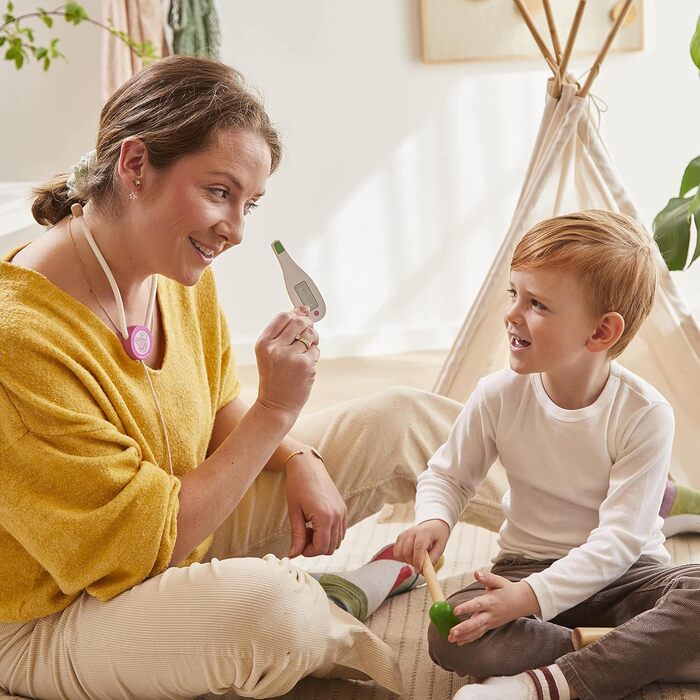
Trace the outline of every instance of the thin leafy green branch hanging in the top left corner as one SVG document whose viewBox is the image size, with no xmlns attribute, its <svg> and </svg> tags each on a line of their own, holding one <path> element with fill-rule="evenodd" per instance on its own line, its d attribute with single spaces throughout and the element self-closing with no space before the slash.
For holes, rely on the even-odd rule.
<svg viewBox="0 0 700 700">
<path fill-rule="evenodd" d="M 77 2 L 67 2 L 55 10 L 44 10 L 38 7 L 34 12 L 22 15 L 15 15 L 14 4 L 8 2 L 2 16 L 2 24 L 0 24 L 0 47 L 7 47 L 5 60 L 14 62 L 15 68 L 19 70 L 33 58 L 41 64 L 44 70 L 48 70 L 51 61 L 56 58 L 65 58 L 58 50 L 58 39 L 51 39 L 47 46 L 41 46 L 34 40 L 34 30 L 26 26 L 26 20 L 38 20 L 51 29 L 55 17 L 63 18 L 68 24 L 78 25 L 87 22 L 100 27 L 123 41 L 141 58 L 148 60 L 160 57 L 151 41 L 134 41 L 126 32 L 117 29 L 111 20 L 108 20 L 108 24 L 104 24 L 92 19 L 88 16 L 85 8 Z"/>
</svg>

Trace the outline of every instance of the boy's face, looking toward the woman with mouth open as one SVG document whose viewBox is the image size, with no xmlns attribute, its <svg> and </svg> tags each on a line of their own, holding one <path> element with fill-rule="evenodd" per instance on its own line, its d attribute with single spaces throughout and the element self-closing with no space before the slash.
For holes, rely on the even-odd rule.
<svg viewBox="0 0 700 700">
<path fill-rule="evenodd" d="M 580 279 L 567 270 L 511 270 L 505 314 L 510 367 L 518 374 L 582 370 L 597 318 Z"/>
</svg>

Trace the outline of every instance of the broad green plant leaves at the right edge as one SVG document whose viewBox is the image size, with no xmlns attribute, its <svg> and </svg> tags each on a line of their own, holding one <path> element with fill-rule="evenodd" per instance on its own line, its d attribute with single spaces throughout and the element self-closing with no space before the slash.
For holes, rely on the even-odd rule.
<svg viewBox="0 0 700 700">
<path fill-rule="evenodd" d="M 690 42 L 690 56 L 700 69 L 700 18 Z M 691 227 L 695 225 L 695 246 L 691 250 Z M 669 270 L 685 270 L 700 257 L 700 156 L 688 163 L 678 197 L 656 215 L 654 240 Z"/>
</svg>

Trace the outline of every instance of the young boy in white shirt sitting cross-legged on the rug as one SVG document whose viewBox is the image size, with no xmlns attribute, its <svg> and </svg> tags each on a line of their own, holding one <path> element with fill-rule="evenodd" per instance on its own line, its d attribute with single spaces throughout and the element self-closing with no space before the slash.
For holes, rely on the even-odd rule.
<svg viewBox="0 0 700 700">
<path fill-rule="evenodd" d="M 616 358 L 651 310 L 648 236 L 585 211 L 537 224 L 511 264 L 510 369 L 483 378 L 418 480 L 394 552 L 422 567 L 491 464 L 509 491 L 490 573 L 451 597 L 463 620 L 430 654 L 487 678 L 465 698 L 620 698 L 700 651 L 700 566 L 669 567 L 659 507 L 673 411 Z M 697 381 L 697 377 L 688 378 Z M 574 651 L 570 628 L 615 627 Z"/>
</svg>

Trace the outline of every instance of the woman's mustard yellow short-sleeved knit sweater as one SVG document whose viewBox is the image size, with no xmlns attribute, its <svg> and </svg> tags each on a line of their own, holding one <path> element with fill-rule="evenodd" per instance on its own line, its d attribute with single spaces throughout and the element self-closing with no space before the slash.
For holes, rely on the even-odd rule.
<svg viewBox="0 0 700 700">
<path fill-rule="evenodd" d="M 0 621 L 108 600 L 162 572 L 180 482 L 141 363 L 80 302 L 0 260 Z M 207 271 L 161 278 L 160 370 L 149 370 L 175 474 L 205 458 L 216 411 L 238 393 L 228 329 Z M 210 540 L 186 563 L 201 559 Z"/>
</svg>

